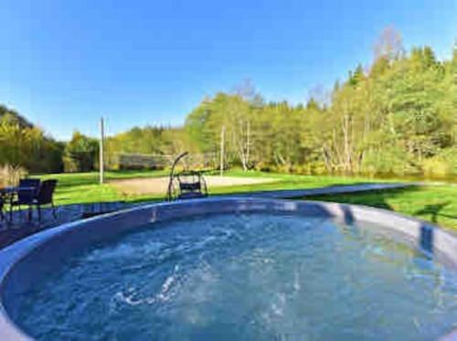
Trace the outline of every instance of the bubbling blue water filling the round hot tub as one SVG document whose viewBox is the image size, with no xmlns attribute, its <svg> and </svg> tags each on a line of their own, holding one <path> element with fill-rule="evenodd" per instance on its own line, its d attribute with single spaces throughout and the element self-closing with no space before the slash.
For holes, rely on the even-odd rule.
<svg viewBox="0 0 457 341">
<path fill-rule="evenodd" d="M 456 295 L 455 272 L 372 224 L 243 213 L 92 245 L 12 317 L 49 340 L 431 339 L 455 326 Z"/>
</svg>

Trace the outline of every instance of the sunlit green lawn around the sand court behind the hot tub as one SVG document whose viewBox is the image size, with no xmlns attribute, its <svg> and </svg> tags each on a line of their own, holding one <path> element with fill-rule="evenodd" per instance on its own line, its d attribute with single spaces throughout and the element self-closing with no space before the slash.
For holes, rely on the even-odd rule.
<svg viewBox="0 0 457 341">
<path fill-rule="evenodd" d="M 97 173 L 75 173 L 40 176 L 57 178 L 56 203 L 67 205 L 75 203 L 126 201 L 141 202 L 162 200 L 163 196 L 125 196 L 110 185 L 111 180 L 166 176 L 165 171 L 123 171 L 107 172 L 105 185 L 98 184 Z M 244 186 L 225 186 L 210 190 L 211 195 L 243 193 L 277 189 L 304 189 L 321 186 L 350 185 L 367 182 L 386 182 L 386 180 L 345 177 L 345 176 L 296 176 L 261 172 L 229 171 L 227 176 L 249 176 L 273 178 L 274 182 Z M 397 180 L 398 181 L 398 180 Z M 442 227 L 457 229 L 457 184 L 428 183 L 427 186 L 414 186 L 405 189 L 375 191 L 362 194 L 305 197 L 305 199 L 345 202 L 386 208 L 430 220 Z"/>
</svg>

